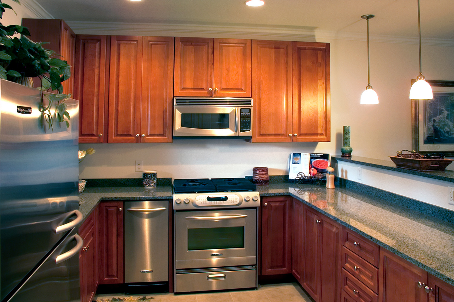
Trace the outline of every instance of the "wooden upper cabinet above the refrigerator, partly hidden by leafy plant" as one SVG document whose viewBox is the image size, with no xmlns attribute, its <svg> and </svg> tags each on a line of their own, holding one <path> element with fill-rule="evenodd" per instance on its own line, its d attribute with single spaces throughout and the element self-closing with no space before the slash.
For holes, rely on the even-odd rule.
<svg viewBox="0 0 454 302">
<path fill-rule="evenodd" d="M 30 31 L 30 39 L 34 42 L 49 42 L 43 47 L 53 50 L 60 58 L 71 65 L 71 77 L 62 83 L 63 93 L 73 94 L 74 92 L 74 53 L 76 34 L 61 19 L 22 19 L 22 26 Z M 33 86 L 41 86 L 39 78 L 33 79 Z"/>
</svg>

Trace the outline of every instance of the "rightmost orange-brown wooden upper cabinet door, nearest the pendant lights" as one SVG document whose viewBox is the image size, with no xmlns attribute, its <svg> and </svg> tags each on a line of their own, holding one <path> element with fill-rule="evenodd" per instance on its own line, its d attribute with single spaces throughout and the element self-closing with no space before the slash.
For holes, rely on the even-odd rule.
<svg viewBox="0 0 454 302">
<path fill-rule="evenodd" d="M 293 141 L 331 140 L 330 44 L 292 43 Z"/>
</svg>

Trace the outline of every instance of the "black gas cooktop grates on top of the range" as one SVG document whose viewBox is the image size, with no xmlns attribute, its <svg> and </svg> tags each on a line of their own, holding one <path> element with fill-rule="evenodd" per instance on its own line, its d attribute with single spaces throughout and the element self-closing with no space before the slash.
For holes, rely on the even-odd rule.
<svg viewBox="0 0 454 302">
<path fill-rule="evenodd" d="M 240 178 L 193 178 L 173 180 L 175 193 L 244 192 L 255 191 L 256 185 Z"/>
</svg>

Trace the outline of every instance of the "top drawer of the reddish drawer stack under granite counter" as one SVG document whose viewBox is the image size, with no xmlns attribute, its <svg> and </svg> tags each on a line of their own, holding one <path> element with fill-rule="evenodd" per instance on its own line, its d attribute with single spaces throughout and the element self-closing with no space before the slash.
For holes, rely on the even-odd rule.
<svg viewBox="0 0 454 302">
<path fill-rule="evenodd" d="M 378 244 L 365 239 L 363 236 L 347 229 L 345 226 L 343 227 L 342 241 L 345 247 L 378 268 Z"/>
</svg>

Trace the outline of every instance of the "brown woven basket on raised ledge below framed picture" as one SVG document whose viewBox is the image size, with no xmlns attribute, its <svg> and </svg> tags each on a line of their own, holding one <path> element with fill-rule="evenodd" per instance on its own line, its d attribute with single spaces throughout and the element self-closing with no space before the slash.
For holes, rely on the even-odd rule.
<svg viewBox="0 0 454 302">
<path fill-rule="evenodd" d="M 410 169 L 415 171 L 444 171 L 452 159 L 446 159 L 442 155 L 436 156 L 422 156 L 415 151 L 408 151 L 410 153 L 403 154 L 398 151 L 397 156 L 390 156 L 391 160 L 395 163 L 397 168 Z"/>
</svg>

